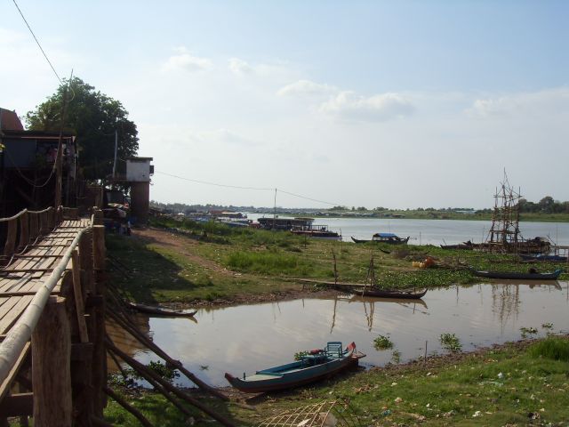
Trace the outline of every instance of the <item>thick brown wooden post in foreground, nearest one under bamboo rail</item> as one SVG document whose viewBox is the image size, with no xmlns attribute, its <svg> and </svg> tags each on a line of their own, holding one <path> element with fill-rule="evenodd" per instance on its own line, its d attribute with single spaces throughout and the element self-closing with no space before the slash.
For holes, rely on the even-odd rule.
<svg viewBox="0 0 569 427">
<path fill-rule="evenodd" d="M 32 334 L 34 426 L 71 427 L 71 333 L 65 299 L 50 297 Z"/>
</svg>

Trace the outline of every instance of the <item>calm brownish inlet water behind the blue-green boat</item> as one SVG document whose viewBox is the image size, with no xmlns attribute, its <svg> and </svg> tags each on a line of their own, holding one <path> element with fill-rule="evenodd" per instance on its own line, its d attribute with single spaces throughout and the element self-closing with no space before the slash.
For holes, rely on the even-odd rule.
<svg viewBox="0 0 569 427">
<path fill-rule="evenodd" d="M 196 322 L 144 316 L 138 321 L 172 358 L 207 383 L 222 386 L 228 385 L 225 372 L 243 375 L 284 364 L 296 351 L 322 348 L 328 341 L 354 341 L 367 354 L 362 365 L 383 366 L 394 355 L 393 350 L 373 348 L 379 335 L 389 335 L 405 362 L 421 357 L 426 342 L 429 355 L 444 352 L 439 338 L 445 333 L 456 334 L 463 350 L 517 340 L 522 327 L 536 328 L 535 336 L 566 333 L 568 313 L 567 282 L 510 281 L 429 290 L 422 302 L 346 295 L 203 309 Z M 134 346 L 130 352 L 144 363 L 156 359 Z"/>
</svg>

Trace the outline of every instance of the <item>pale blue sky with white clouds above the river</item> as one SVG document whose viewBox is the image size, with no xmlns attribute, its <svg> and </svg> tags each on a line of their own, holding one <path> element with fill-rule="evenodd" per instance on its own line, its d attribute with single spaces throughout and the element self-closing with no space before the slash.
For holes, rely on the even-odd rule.
<svg viewBox="0 0 569 427">
<path fill-rule="evenodd" d="M 16 2 L 60 77 L 129 111 L 153 200 L 483 208 L 504 170 L 569 200 L 569 2 Z M 0 17 L 24 117 L 59 81 Z"/>
</svg>

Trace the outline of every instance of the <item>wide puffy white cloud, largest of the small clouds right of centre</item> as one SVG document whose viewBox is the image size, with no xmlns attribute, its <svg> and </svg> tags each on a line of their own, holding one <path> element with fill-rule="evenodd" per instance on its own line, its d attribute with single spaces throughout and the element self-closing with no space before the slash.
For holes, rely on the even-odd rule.
<svg viewBox="0 0 569 427">
<path fill-rule="evenodd" d="M 383 122 L 413 114 L 413 103 L 398 93 L 383 93 L 369 97 L 344 91 L 320 106 L 326 115 L 342 120 Z"/>
</svg>

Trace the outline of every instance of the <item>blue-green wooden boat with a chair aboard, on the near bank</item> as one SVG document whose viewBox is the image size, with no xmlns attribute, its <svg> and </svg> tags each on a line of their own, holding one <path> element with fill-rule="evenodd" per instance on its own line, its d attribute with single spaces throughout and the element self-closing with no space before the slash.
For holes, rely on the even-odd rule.
<svg viewBox="0 0 569 427">
<path fill-rule="evenodd" d="M 225 378 L 233 387 L 245 393 L 287 390 L 357 366 L 358 360 L 364 357 L 365 354 L 357 351 L 354 342 L 345 350 L 342 350 L 341 342 L 328 342 L 324 350 L 312 350 L 292 363 L 262 369 L 254 375 L 243 375 L 243 378 L 226 373 Z"/>
</svg>

